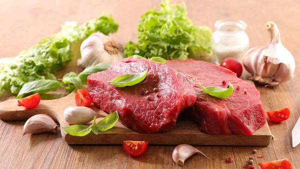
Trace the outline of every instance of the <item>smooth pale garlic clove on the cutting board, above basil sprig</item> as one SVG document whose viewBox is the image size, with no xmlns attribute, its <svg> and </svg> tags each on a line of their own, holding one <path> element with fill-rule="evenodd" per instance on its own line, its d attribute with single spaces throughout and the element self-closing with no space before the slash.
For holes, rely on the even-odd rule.
<svg viewBox="0 0 300 169">
<path fill-rule="evenodd" d="M 88 107 L 67 107 L 63 112 L 64 119 L 69 124 L 85 124 L 93 120 L 95 112 Z"/>
</svg>

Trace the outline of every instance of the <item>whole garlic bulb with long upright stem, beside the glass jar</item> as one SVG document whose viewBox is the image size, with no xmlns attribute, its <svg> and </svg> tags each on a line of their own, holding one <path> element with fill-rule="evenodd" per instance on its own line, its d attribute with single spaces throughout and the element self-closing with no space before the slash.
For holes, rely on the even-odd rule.
<svg viewBox="0 0 300 169">
<path fill-rule="evenodd" d="M 280 34 L 273 22 L 266 23 L 271 41 L 266 46 L 249 49 L 243 58 L 250 78 L 265 86 L 275 86 L 294 76 L 295 61 L 290 52 L 281 44 Z"/>
</svg>

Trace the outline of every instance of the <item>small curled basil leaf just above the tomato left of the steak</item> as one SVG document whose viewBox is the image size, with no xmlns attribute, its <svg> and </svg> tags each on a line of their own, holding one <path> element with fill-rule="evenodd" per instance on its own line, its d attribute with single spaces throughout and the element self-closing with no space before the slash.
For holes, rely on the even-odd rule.
<svg viewBox="0 0 300 169">
<path fill-rule="evenodd" d="M 81 79 L 74 72 L 65 74 L 62 78 L 62 83 L 66 84 L 66 90 L 72 92 L 75 88 L 80 89 L 82 87 Z"/>
</svg>

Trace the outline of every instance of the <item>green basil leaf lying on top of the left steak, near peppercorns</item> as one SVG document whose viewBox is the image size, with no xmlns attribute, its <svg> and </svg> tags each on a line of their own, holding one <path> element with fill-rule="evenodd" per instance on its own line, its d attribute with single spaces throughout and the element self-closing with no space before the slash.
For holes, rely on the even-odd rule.
<svg viewBox="0 0 300 169">
<path fill-rule="evenodd" d="M 148 74 L 148 69 L 141 73 L 130 73 L 123 76 L 117 76 L 108 83 L 116 87 L 133 86 L 143 81 Z"/>
</svg>

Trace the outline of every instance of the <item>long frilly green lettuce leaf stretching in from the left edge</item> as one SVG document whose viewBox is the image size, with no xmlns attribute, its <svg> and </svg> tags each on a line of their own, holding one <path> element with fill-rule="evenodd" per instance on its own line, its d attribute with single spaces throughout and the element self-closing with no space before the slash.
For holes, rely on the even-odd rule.
<svg viewBox="0 0 300 169">
<path fill-rule="evenodd" d="M 107 35 L 117 31 L 112 17 L 101 15 L 82 26 L 66 22 L 59 33 L 44 38 L 33 47 L 22 51 L 10 60 L 0 60 L 0 94 L 4 89 L 17 94 L 22 86 L 31 81 L 53 79 L 51 73 L 71 61 L 71 44 L 86 39 L 95 32 Z"/>
</svg>

